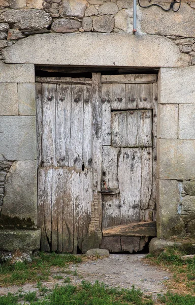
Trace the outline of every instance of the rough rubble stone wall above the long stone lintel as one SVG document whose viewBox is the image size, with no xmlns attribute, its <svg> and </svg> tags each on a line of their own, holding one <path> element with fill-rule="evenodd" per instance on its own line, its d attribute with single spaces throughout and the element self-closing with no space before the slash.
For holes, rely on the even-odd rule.
<svg viewBox="0 0 195 305">
<path fill-rule="evenodd" d="M 142 0 L 142 5 L 150 1 Z M 157 1 L 167 8 L 170 1 Z M 195 64 L 195 2 L 179 12 L 138 6 L 137 35 L 165 36 Z M 128 33 L 133 31 L 133 0 L 0 0 L 0 51 L 37 33 Z M 92 33 L 91 33 L 92 35 Z M 3 59 L 3 56 L 0 58 Z"/>
</svg>

